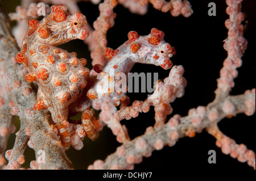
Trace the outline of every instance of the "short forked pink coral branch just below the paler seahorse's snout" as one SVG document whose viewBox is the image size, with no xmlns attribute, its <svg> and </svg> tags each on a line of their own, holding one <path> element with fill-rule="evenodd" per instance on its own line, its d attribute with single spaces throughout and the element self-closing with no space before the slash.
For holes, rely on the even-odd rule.
<svg viewBox="0 0 256 181">
<path fill-rule="evenodd" d="M 135 100 L 129 107 L 122 104 L 121 109 L 118 110 L 120 120 L 137 117 L 139 112 L 148 112 L 150 106 L 155 106 L 155 127 L 163 125 L 166 116 L 172 112 L 170 103 L 174 102 L 176 97 L 180 98 L 184 95 L 184 87 L 187 85 L 187 81 L 182 76 L 183 73 L 183 66 L 174 66 L 170 71 L 169 77 L 164 79 L 164 82 L 158 81 L 155 85 L 155 92 L 144 102 Z"/>
</svg>

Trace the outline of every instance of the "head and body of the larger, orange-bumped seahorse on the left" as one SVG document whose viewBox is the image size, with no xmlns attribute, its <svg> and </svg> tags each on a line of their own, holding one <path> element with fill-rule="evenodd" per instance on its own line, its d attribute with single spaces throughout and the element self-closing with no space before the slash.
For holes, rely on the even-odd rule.
<svg viewBox="0 0 256 181">
<path fill-rule="evenodd" d="M 77 99 L 79 91 L 86 86 L 89 69 L 84 68 L 85 58 L 68 53 L 57 45 L 73 39 L 84 40 L 85 16 L 67 12 L 67 7 L 51 7 L 51 14 L 42 21 L 31 19 L 24 37 L 22 50 L 16 61 L 26 66 L 28 82 L 38 83 L 38 102 L 34 110 L 48 108 L 54 123 L 68 120 L 68 106 Z"/>
</svg>

